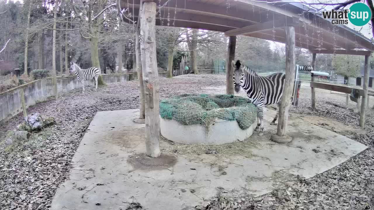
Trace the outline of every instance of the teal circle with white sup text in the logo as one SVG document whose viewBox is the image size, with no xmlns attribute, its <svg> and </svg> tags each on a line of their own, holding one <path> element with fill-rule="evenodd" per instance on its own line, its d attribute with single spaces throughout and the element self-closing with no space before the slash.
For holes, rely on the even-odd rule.
<svg viewBox="0 0 374 210">
<path fill-rule="evenodd" d="M 363 26 L 371 19 L 371 10 L 364 3 L 355 3 L 349 8 L 349 21 L 356 26 Z"/>
</svg>

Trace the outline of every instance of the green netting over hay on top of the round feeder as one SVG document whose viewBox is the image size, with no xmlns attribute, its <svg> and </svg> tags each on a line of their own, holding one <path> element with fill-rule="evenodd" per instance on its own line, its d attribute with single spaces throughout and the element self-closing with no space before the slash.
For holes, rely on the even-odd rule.
<svg viewBox="0 0 374 210">
<path fill-rule="evenodd" d="M 201 124 L 208 128 L 217 119 L 236 120 L 243 130 L 257 120 L 257 108 L 248 99 L 234 95 L 183 94 L 160 102 L 164 119 L 182 124 Z"/>
</svg>

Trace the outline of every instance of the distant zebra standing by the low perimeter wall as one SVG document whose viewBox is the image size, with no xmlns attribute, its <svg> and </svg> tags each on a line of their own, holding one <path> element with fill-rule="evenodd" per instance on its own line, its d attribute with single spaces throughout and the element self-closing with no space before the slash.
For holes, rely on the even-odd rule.
<svg viewBox="0 0 374 210">
<path fill-rule="evenodd" d="M 81 69 L 78 64 L 70 62 L 70 72 L 74 72 L 75 75 L 77 75 L 78 80 L 80 80 L 80 83 L 82 83 L 83 91 L 82 93 L 85 93 L 85 80 L 92 80 L 95 78 L 95 85 L 97 90 L 97 78 L 99 77 L 100 70 L 96 67 L 91 67 L 87 69 Z"/>
</svg>

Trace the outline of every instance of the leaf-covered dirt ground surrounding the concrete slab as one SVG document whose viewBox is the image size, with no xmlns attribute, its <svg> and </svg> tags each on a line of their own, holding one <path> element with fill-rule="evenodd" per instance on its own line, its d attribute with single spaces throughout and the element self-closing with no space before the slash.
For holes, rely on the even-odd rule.
<svg viewBox="0 0 374 210">
<path fill-rule="evenodd" d="M 181 93 L 206 93 L 206 87 L 224 88 L 226 75 L 183 75 L 160 78 L 160 98 Z M 0 209 L 48 209 L 55 190 L 67 177 L 70 160 L 92 117 L 97 111 L 136 109 L 139 106 L 137 81 L 111 83 L 97 92 L 87 87 L 60 96 L 57 100 L 38 103 L 27 109 L 45 117 L 55 117 L 56 125 L 33 135 L 30 142 L 14 151 L 0 148 Z M 271 194 L 251 198 L 248 209 L 372 209 L 374 208 L 374 111 L 367 111 L 365 129 L 358 127 L 359 115 L 326 101 L 345 104 L 345 95 L 316 91 L 316 110 L 310 109 L 310 87 L 303 83 L 298 107 L 291 106 L 291 117 L 301 117 L 316 126 L 340 133 L 369 146 L 351 160 L 310 179 L 297 177 L 292 183 L 276 188 Z M 211 90 L 211 89 L 210 89 Z M 370 107 L 374 106 L 371 97 Z M 349 106 L 355 107 L 350 101 Z M 19 114 L 0 124 L 0 139 L 7 130 L 21 123 Z M 244 197 L 243 197 L 244 196 Z M 220 209 L 224 194 L 212 198 L 210 209 Z M 236 199 L 236 198 L 235 198 Z M 230 209 L 230 208 L 226 208 Z"/>
</svg>

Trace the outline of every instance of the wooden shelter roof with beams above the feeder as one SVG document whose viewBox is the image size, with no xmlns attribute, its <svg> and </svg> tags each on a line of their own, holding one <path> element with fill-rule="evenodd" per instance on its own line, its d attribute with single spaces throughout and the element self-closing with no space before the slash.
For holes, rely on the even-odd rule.
<svg viewBox="0 0 374 210">
<path fill-rule="evenodd" d="M 121 0 L 121 6 L 129 8 L 137 20 L 140 1 Z M 292 24 L 296 46 L 311 52 L 332 53 L 340 49 L 342 54 L 355 55 L 353 49 L 374 50 L 374 43 L 369 38 L 344 25 L 331 24 L 322 16 L 308 12 L 313 10 L 300 3 L 279 3 L 279 0 L 267 1 L 278 3 L 259 0 L 154 1 L 158 7 L 156 25 L 160 26 L 220 31 L 227 36 L 247 35 L 285 43 L 285 25 Z M 358 53 L 366 55 L 369 52 Z"/>
</svg>

